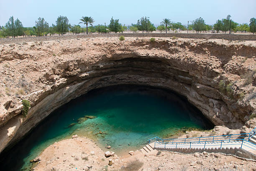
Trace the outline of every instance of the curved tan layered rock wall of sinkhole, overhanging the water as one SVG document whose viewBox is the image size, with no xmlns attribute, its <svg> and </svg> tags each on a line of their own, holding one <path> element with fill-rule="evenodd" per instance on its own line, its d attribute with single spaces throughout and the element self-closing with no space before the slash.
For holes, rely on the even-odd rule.
<svg viewBox="0 0 256 171">
<path fill-rule="evenodd" d="M 56 108 L 109 85 L 171 89 L 187 97 L 212 123 L 229 128 L 241 128 L 253 113 L 255 99 L 246 101 L 253 86 L 243 85 L 240 75 L 253 70 L 255 47 L 202 40 L 166 38 L 150 43 L 116 39 L 49 41 L 20 48 L 1 45 L 1 79 L 8 78 L 6 87 L 14 92 L 23 88 L 25 94 L 10 91 L 9 96 L 0 97 L 0 151 Z M 248 61 L 242 63 L 241 55 Z M 233 83 L 232 98 L 219 91 L 220 80 Z M 26 118 L 20 113 L 20 100 L 24 98 L 31 102 Z"/>
</svg>

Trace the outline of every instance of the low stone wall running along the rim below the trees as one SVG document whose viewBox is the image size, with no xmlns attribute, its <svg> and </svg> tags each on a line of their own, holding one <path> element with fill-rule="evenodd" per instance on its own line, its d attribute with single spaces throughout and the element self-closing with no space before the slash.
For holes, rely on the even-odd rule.
<svg viewBox="0 0 256 171">
<path fill-rule="evenodd" d="M 108 33 L 108 34 L 88 34 L 88 35 L 59 35 L 59 36 L 44 36 L 31 38 L 3 38 L 0 39 L 0 44 L 33 42 L 46 40 L 67 40 L 75 38 L 103 38 L 103 37 L 167 37 L 172 38 L 193 38 L 193 39 L 227 39 L 227 40 L 256 40 L 256 35 L 240 35 L 240 34 L 196 34 L 196 33 Z"/>
</svg>

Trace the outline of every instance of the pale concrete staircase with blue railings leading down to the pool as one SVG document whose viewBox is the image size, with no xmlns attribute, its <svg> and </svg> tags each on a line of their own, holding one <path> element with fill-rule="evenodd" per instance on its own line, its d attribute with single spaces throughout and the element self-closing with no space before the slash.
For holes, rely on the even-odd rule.
<svg viewBox="0 0 256 171">
<path fill-rule="evenodd" d="M 234 154 L 246 153 L 256 159 L 256 128 L 250 133 L 224 136 L 208 136 L 195 138 L 161 139 L 154 137 L 148 140 L 148 145 L 141 151 L 148 153 L 154 149 L 176 151 L 180 153 L 215 152 Z M 239 152 L 238 152 L 239 151 Z M 247 157 L 248 158 L 248 157 Z"/>
</svg>

